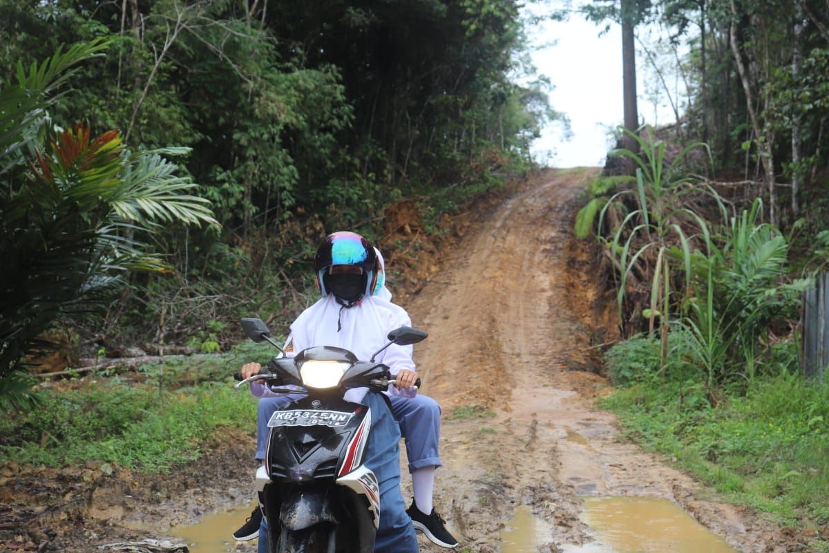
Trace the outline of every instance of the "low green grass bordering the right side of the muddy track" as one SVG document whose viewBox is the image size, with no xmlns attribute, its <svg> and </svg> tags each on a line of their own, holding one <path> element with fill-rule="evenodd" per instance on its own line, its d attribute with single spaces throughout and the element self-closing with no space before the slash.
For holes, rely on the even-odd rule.
<svg viewBox="0 0 829 553">
<path fill-rule="evenodd" d="M 624 356 L 610 357 L 630 386 L 604 406 L 633 439 L 779 523 L 829 525 L 829 386 L 781 370 L 710 394 L 688 373 L 630 378 Z"/>
</svg>

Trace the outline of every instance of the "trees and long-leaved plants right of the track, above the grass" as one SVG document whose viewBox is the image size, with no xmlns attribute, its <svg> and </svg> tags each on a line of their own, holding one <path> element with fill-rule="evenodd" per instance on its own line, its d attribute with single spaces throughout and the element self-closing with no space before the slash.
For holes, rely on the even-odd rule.
<svg viewBox="0 0 829 553">
<path fill-rule="evenodd" d="M 807 269 L 825 257 L 829 4 L 654 0 L 627 7 L 634 25 L 667 31 L 664 43 L 639 41 L 638 49 L 651 61 L 649 49 L 672 50 L 685 93 L 671 98 L 676 124 L 620 134 L 633 147 L 615 151 L 608 172 L 624 165 L 613 160 L 626 159 L 636 180 L 594 183 L 576 231 L 596 231 L 604 245 L 624 334 L 658 329 L 665 365 L 668 332 L 684 328 L 714 385 L 752 373 L 770 342 L 796 338 L 799 293 L 808 282 L 796 277 L 808 274 L 795 274 L 790 250 Z M 596 0 L 584 13 L 620 22 L 623 8 Z M 665 67 L 652 69 L 674 94 Z"/>
</svg>

